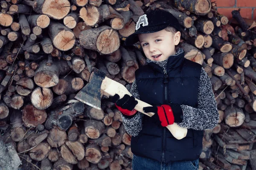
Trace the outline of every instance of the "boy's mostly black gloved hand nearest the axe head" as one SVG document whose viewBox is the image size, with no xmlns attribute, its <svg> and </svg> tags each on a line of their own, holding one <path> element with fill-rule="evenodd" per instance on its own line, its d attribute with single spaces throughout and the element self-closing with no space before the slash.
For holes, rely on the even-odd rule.
<svg viewBox="0 0 256 170">
<path fill-rule="evenodd" d="M 135 100 L 134 96 L 129 96 L 125 94 L 125 96 L 120 99 L 118 94 L 115 94 L 111 98 L 111 102 L 115 103 L 116 108 L 121 111 L 122 114 L 126 116 L 133 116 L 137 111 L 134 109 L 138 102 Z"/>
</svg>

